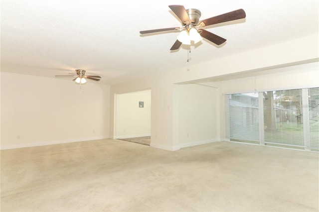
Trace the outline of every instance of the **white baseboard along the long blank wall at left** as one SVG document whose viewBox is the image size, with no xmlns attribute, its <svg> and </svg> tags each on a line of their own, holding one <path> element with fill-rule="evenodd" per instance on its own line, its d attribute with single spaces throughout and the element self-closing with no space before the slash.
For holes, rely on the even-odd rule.
<svg viewBox="0 0 319 212">
<path fill-rule="evenodd" d="M 83 138 L 83 139 L 68 139 L 68 140 L 57 140 L 57 141 L 45 141 L 39 143 L 23 143 L 23 144 L 14 144 L 8 146 L 0 146 L 0 150 L 4 149 L 18 149 L 25 147 L 34 147 L 34 146 L 45 146 L 45 145 L 53 145 L 53 144 L 62 144 L 62 143 L 73 143 L 73 142 L 81 142 L 81 141 L 90 141 L 90 140 L 101 140 L 101 139 L 109 139 L 108 136 L 100 136 L 100 137 L 91 137 L 91 138 Z"/>
</svg>

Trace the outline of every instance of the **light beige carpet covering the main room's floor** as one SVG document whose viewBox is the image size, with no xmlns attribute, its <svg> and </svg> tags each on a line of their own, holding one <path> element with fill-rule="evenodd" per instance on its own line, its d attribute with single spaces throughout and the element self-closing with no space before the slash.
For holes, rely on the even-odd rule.
<svg viewBox="0 0 319 212">
<path fill-rule="evenodd" d="M 1 150 L 6 211 L 317 211 L 318 153 L 96 140 Z"/>
</svg>

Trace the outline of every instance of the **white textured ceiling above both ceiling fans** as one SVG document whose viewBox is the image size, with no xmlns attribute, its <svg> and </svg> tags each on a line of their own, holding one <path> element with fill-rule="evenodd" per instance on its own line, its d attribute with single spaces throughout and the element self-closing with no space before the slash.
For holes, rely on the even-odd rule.
<svg viewBox="0 0 319 212">
<path fill-rule="evenodd" d="M 186 47 L 169 50 L 178 32 L 139 33 L 180 27 L 170 4 L 199 9 L 200 20 L 239 8 L 246 18 L 206 28 L 226 43 L 204 39 L 191 46 L 186 62 Z M 319 0 L 1 0 L 0 6 L 2 71 L 53 78 L 85 69 L 107 84 L 319 31 Z"/>
</svg>

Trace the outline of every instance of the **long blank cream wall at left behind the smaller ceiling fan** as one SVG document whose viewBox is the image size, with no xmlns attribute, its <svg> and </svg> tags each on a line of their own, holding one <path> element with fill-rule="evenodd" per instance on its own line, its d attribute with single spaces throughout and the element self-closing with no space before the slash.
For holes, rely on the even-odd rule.
<svg viewBox="0 0 319 212">
<path fill-rule="evenodd" d="M 1 149 L 109 138 L 110 87 L 1 71 Z"/>
</svg>

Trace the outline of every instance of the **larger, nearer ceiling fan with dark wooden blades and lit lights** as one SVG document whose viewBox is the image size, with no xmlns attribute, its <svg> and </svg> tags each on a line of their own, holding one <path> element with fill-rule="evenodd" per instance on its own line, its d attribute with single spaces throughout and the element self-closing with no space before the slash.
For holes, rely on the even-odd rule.
<svg viewBox="0 0 319 212">
<path fill-rule="evenodd" d="M 180 19 L 182 27 L 144 30 L 140 31 L 140 33 L 148 34 L 154 32 L 180 31 L 180 34 L 177 36 L 177 40 L 172 45 L 170 50 L 179 49 L 181 44 L 190 45 L 191 41 L 197 43 L 202 40 L 202 37 L 215 43 L 216 45 L 220 45 L 226 41 L 225 38 L 206 31 L 205 29 L 201 29 L 201 27 L 246 17 L 246 13 L 243 9 L 237 9 L 199 21 L 201 12 L 198 9 L 185 9 L 183 5 L 169 5 L 168 7 Z"/>
</svg>

